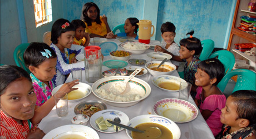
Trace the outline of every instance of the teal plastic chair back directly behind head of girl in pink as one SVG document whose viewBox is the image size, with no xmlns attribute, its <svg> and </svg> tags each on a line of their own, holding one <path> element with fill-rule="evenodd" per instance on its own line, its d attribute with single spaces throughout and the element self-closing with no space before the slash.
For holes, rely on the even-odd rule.
<svg viewBox="0 0 256 139">
<path fill-rule="evenodd" d="M 221 63 L 223 63 L 225 67 L 225 73 L 227 74 L 232 70 L 235 64 L 235 56 L 232 52 L 227 50 L 220 50 L 212 53 L 209 58 L 218 57 Z"/>
</svg>

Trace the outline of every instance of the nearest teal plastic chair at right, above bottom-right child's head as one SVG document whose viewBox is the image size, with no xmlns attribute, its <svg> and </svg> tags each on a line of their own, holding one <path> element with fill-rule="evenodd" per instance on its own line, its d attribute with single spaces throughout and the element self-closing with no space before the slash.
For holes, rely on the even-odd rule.
<svg viewBox="0 0 256 139">
<path fill-rule="evenodd" d="M 235 69 L 233 71 L 228 72 L 217 85 L 220 91 L 223 92 L 228 84 L 229 79 L 236 75 L 238 76 L 237 83 L 235 83 L 233 92 L 238 90 L 256 91 L 256 87 L 255 87 L 256 73 L 254 73 L 253 71 L 250 71 L 249 69 Z"/>
</svg>

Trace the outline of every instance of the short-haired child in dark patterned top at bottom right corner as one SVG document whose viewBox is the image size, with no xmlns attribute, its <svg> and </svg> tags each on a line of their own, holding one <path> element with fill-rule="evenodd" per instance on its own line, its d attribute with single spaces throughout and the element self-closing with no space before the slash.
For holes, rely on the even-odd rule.
<svg viewBox="0 0 256 139">
<path fill-rule="evenodd" d="M 255 139 L 256 91 L 235 91 L 221 109 L 220 122 L 225 124 L 215 138 Z"/>
</svg>

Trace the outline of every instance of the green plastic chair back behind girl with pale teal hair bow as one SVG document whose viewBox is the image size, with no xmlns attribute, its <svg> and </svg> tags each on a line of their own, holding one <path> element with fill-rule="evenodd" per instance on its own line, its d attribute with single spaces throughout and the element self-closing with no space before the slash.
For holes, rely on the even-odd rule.
<svg viewBox="0 0 256 139">
<path fill-rule="evenodd" d="M 27 47 L 29 46 L 29 43 L 22 43 L 19 44 L 13 52 L 13 58 L 15 63 L 17 64 L 17 66 L 22 67 L 23 69 L 25 69 L 25 71 L 27 71 L 27 73 L 31 73 L 29 71 L 29 69 L 26 67 L 24 59 L 23 59 L 23 53 L 24 51 L 27 49 Z"/>
</svg>

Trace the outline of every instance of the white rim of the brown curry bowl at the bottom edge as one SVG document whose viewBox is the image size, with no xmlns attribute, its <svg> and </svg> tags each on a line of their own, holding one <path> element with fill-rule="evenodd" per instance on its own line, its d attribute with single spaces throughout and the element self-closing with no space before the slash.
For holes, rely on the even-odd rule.
<svg viewBox="0 0 256 139">
<path fill-rule="evenodd" d="M 176 125 L 176 123 L 169 120 L 168 118 L 165 118 L 159 115 L 140 115 L 140 116 L 134 117 L 127 123 L 127 126 L 136 127 L 141 123 L 150 123 L 150 122 L 158 123 L 162 126 L 167 127 L 171 131 L 171 133 L 173 133 L 173 139 L 180 138 L 180 128 Z M 126 130 L 126 133 L 132 139 L 131 131 Z"/>
</svg>

